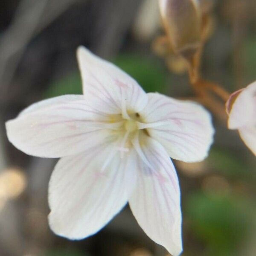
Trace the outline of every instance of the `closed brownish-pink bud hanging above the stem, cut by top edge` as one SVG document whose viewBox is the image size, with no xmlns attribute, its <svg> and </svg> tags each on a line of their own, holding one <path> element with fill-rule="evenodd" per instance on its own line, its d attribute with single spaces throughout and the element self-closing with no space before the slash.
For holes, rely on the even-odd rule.
<svg viewBox="0 0 256 256">
<path fill-rule="evenodd" d="M 163 25 L 176 54 L 191 60 L 201 45 L 201 11 L 197 0 L 159 0 Z"/>
</svg>

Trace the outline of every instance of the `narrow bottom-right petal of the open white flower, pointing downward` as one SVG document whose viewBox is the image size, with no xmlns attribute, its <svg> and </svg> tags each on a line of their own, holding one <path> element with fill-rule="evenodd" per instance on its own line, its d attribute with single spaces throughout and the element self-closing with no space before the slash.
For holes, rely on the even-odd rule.
<svg viewBox="0 0 256 256">
<path fill-rule="evenodd" d="M 174 256 L 182 251 L 180 189 L 175 167 L 160 143 L 148 137 L 141 150 L 137 186 L 129 199 L 144 232 Z"/>
</svg>

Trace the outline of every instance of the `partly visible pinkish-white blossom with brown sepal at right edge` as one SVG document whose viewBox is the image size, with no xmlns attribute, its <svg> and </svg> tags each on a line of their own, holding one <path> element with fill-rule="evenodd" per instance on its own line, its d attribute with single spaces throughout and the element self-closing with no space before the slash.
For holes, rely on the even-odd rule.
<svg viewBox="0 0 256 256">
<path fill-rule="evenodd" d="M 226 111 L 228 128 L 238 129 L 241 139 L 256 155 L 256 81 L 232 93 Z"/>
</svg>

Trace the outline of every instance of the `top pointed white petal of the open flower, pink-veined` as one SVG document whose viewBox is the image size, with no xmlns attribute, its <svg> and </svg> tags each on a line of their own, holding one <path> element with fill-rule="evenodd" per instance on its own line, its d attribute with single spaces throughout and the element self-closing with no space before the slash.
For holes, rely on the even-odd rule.
<svg viewBox="0 0 256 256">
<path fill-rule="evenodd" d="M 137 82 L 112 63 L 97 57 L 85 47 L 79 47 L 77 58 L 81 71 L 84 95 L 90 104 L 105 113 L 142 110 L 147 95 Z"/>
</svg>

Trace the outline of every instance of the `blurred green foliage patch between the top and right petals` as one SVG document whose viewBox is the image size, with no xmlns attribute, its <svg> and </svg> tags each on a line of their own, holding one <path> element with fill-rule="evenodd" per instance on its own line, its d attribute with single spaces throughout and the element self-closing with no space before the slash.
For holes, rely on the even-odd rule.
<svg viewBox="0 0 256 256">
<path fill-rule="evenodd" d="M 165 93 L 166 73 L 156 61 L 137 55 L 119 55 L 114 61 L 148 92 Z"/>
</svg>

